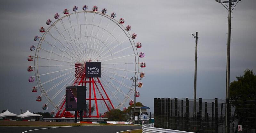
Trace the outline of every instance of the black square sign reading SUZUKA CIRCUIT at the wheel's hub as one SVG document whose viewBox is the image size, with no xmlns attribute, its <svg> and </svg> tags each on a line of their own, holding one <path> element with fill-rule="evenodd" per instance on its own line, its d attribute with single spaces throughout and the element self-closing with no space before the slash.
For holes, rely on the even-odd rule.
<svg viewBox="0 0 256 133">
<path fill-rule="evenodd" d="M 100 62 L 85 62 L 85 76 L 86 78 L 100 78 Z"/>
</svg>

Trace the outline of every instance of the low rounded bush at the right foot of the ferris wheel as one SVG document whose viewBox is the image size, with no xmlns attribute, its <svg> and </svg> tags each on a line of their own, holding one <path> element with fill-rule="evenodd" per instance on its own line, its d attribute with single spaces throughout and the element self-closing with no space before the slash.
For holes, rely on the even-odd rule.
<svg viewBox="0 0 256 133">
<path fill-rule="evenodd" d="M 120 109 L 111 109 L 106 113 L 106 117 L 108 121 L 126 121 L 127 115 L 124 111 Z"/>
</svg>

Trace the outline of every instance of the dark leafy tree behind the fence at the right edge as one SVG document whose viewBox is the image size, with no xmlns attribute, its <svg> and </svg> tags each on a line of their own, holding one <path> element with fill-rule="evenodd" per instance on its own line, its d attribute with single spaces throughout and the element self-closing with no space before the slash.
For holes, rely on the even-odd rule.
<svg viewBox="0 0 256 133">
<path fill-rule="evenodd" d="M 243 76 L 236 76 L 237 81 L 230 83 L 231 100 L 256 100 L 256 75 L 246 69 Z"/>
</svg>

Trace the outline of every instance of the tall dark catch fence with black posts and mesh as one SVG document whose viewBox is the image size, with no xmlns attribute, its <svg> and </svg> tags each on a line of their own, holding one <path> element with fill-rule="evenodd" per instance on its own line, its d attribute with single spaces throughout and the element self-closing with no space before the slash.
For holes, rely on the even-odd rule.
<svg viewBox="0 0 256 133">
<path fill-rule="evenodd" d="M 155 127 L 198 133 L 226 133 L 227 126 L 227 133 L 237 133 L 237 125 L 242 125 L 239 133 L 256 133 L 256 101 L 199 98 L 196 100 L 196 112 L 193 110 L 193 99 L 155 98 Z"/>
</svg>

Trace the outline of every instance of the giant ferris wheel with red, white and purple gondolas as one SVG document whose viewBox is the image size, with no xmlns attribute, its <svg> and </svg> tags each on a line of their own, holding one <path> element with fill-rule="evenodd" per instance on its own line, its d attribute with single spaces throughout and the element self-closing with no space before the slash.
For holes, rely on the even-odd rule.
<svg viewBox="0 0 256 133">
<path fill-rule="evenodd" d="M 124 25 L 124 18 L 117 14 L 107 14 L 107 9 L 99 11 L 97 6 L 88 10 L 74 6 L 72 11 L 64 9 L 48 19 L 46 27 L 39 28 L 34 37 L 37 45 L 30 47 L 35 54 L 28 56 L 34 64 L 28 72 L 35 73 L 29 78 L 34 82 L 32 92 L 37 93 L 36 101 L 43 101 L 43 109 L 53 106 L 52 115 L 72 117 L 65 111 L 65 88 L 85 86 L 88 117 L 99 117 L 101 112 L 112 108 L 124 108 L 132 104 L 134 82 L 131 77 L 145 77 L 140 61 L 145 55 L 137 34 L 131 32 L 130 25 Z M 85 62 L 101 62 L 101 77 L 86 78 Z M 32 73 L 31 73 L 32 74 Z M 142 82 L 136 86 L 143 87 Z M 39 91 L 40 90 L 40 93 Z M 44 98 L 43 98 L 44 96 Z M 96 108 L 92 115 L 91 107 Z M 50 107 L 49 107 L 50 108 Z"/>
</svg>

